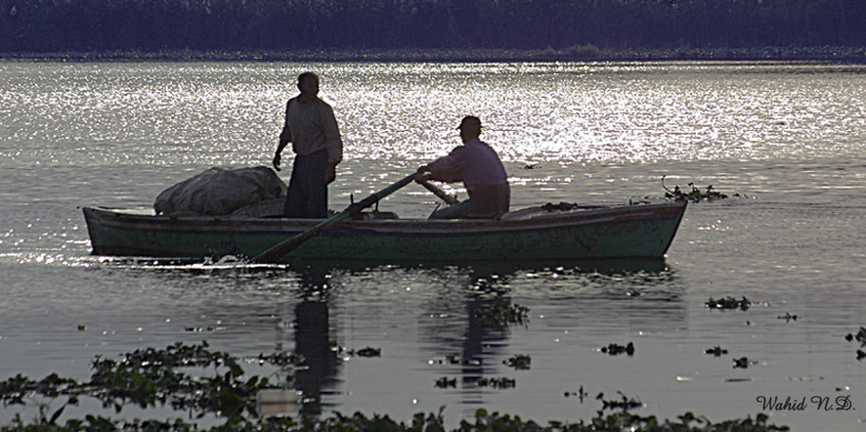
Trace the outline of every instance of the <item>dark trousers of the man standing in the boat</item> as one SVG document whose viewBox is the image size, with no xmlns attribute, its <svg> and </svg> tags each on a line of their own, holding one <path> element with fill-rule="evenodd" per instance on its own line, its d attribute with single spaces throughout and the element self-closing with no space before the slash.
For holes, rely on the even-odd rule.
<svg viewBox="0 0 866 432">
<path fill-rule="evenodd" d="M 292 178 L 285 195 L 283 214 L 286 218 L 328 218 L 328 152 L 294 157 Z"/>
</svg>

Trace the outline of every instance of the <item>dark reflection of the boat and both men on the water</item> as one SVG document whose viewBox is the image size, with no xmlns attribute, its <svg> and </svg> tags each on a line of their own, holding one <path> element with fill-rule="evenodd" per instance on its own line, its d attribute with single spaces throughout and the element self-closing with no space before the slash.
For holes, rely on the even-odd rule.
<svg viewBox="0 0 866 432">
<path fill-rule="evenodd" d="M 108 262 L 130 260 L 133 259 Z M 212 270 L 205 270 L 209 268 Z M 313 416 L 352 406 L 353 399 L 386 398 L 359 384 L 359 375 L 369 373 L 371 368 L 427 376 L 427 381 L 423 381 L 427 385 L 425 391 L 447 398 L 450 404 L 474 410 L 479 404 L 494 400 L 493 393 L 508 391 L 482 386 L 480 381 L 483 379 L 516 378 L 517 388 L 525 385 L 522 372 L 503 364 L 508 358 L 531 354 L 533 369 L 544 364 L 542 353 L 527 349 L 526 338 L 547 339 L 545 336 L 554 333 L 560 336 L 562 330 L 571 330 L 585 341 L 592 338 L 587 333 L 597 332 L 600 328 L 669 333 L 682 329 L 686 319 L 682 280 L 663 260 L 460 265 L 312 260 L 293 262 L 285 268 L 243 263 L 234 267 L 167 265 L 164 274 L 163 271 L 158 274 L 169 278 L 180 274 L 188 280 L 190 271 L 193 274 L 207 272 L 208 278 L 194 279 L 207 283 L 208 288 L 224 285 L 221 279 L 225 279 L 231 282 L 230 287 L 268 289 L 260 300 L 265 303 L 252 307 L 244 302 L 243 295 L 225 295 L 226 303 L 219 303 L 223 309 L 209 310 L 208 315 L 224 315 L 231 311 L 242 314 L 234 321 L 260 321 L 268 325 L 255 331 L 275 331 L 281 350 L 285 346 L 302 354 L 306 361 L 295 370 L 292 389 L 302 393 L 301 413 Z M 239 275 L 242 283 L 236 283 Z M 413 289 L 405 291 L 410 285 Z M 226 291 L 233 294 L 232 290 Z M 271 303 L 273 305 L 269 308 Z M 228 304 L 231 304 L 230 309 L 225 309 Z M 499 305 L 528 307 L 528 328 L 521 324 L 502 326 L 480 319 L 480 312 Z M 268 318 L 271 314 L 274 317 Z M 542 319 L 540 314 L 545 317 Z M 274 320 L 280 324 L 271 325 Z M 283 325 L 285 322 L 292 325 Z M 401 331 L 392 333 L 394 335 L 387 341 L 379 339 L 377 335 L 396 328 Z M 608 342 L 624 344 L 628 341 L 600 338 L 594 343 L 602 346 Z M 340 344 L 360 349 L 369 343 L 383 349 L 381 358 L 346 362 L 344 358 L 349 354 L 341 354 Z M 406 350 L 397 352 L 397 346 Z M 595 352 L 585 355 L 603 358 Z M 440 360 L 442 363 L 435 363 Z M 415 378 L 409 382 L 416 384 Z M 439 378 L 456 382 L 449 388 L 436 388 Z M 361 379 L 360 382 L 367 385 L 369 381 Z M 406 382 L 394 379 L 380 385 L 386 388 Z M 355 392 L 355 396 L 351 392 Z M 370 395 L 370 392 L 374 394 Z M 350 404 L 345 405 L 348 400 Z"/>
</svg>

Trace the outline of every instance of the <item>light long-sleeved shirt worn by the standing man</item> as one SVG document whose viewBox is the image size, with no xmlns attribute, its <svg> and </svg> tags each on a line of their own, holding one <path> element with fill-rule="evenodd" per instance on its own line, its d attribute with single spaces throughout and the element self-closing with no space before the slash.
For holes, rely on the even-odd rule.
<svg viewBox="0 0 866 432">
<path fill-rule="evenodd" d="M 319 98 L 308 103 L 300 102 L 298 98 L 289 100 L 280 141 L 291 142 L 295 154 L 306 155 L 328 150 L 328 163 L 343 160 L 343 140 L 334 110 Z"/>
</svg>

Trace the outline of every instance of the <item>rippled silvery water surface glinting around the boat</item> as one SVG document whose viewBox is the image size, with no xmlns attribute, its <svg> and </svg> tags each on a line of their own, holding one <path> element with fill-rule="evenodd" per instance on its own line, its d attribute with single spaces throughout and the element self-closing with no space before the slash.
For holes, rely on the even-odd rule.
<svg viewBox="0 0 866 432">
<path fill-rule="evenodd" d="M 663 175 L 669 188 L 746 198 L 691 205 L 661 265 L 284 269 L 90 255 L 79 207 L 147 207 L 210 167 L 269 164 L 304 70 L 322 76 L 344 135 L 334 209 L 447 152 L 465 114 L 487 125 L 515 207 L 657 200 Z M 0 379 L 85 379 L 97 354 L 207 339 L 236 355 L 315 359 L 298 381 L 313 399 L 306 413 L 405 421 L 445 405 L 452 423 L 477 408 L 576 420 L 601 408 L 597 393 L 622 391 L 645 415 L 721 421 L 762 412 L 761 395 L 849 395 L 857 410 L 812 404 L 772 419 L 864 428 L 866 363 L 845 340 L 866 325 L 864 67 L 0 62 Z M 382 209 L 425 217 L 435 203 L 410 185 Z M 527 325 L 474 318 L 495 291 L 530 308 Z M 726 295 L 756 304 L 704 304 Z M 627 342 L 633 356 L 600 352 Z M 704 353 L 716 345 L 728 354 Z M 503 364 L 515 354 L 532 369 Z M 755 364 L 735 369 L 742 356 Z M 456 385 L 435 388 L 443 376 Z M 516 386 L 479 388 L 482 376 Z M 585 400 L 565 396 L 581 386 Z M 0 409 L 0 424 L 16 412 Z"/>
</svg>

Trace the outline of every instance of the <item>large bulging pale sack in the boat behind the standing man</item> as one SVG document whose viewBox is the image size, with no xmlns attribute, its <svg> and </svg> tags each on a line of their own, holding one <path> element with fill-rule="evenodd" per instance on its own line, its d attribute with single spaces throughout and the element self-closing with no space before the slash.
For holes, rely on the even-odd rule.
<svg viewBox="0 0 866 432">
<path fill-rule="evenodd" d="M 153 208 L 158 214 L 224 215 L 285 197 L 285 183 L 268 167 L 214 167 L 162 191 Z"/>
</svg>

